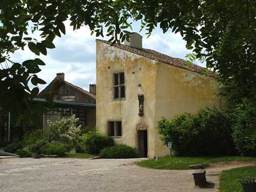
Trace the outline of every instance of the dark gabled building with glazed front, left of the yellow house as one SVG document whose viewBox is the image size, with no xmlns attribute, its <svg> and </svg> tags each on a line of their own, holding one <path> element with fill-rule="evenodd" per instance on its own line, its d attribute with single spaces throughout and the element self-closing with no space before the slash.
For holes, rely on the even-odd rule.
<svg viewBox="0 0 256 192">
<path fill-rule="evenodd" d="M 45 132 L 49 131 L 48 119 L 59 121 L 61 118 L 76 115 L 79 118 L 77 125 L 82 125 L 83 130 L 94 128 L 96 125 L 96 85 L 90 84 L 89 90 L 88 92 L 65 81 L 65 74 L 58 73 L 38 97 L 31 101 L 33 105 L 48 106 L 48 112 L 40 115 L 42 127 L 35 127 L 32 123 L 14 126 L 11 124 L 11 113 L 5 114 L 0 108 L 0 146 L 21 140 L 24 134 L 36 128 L 42 128 Z M 47 98 L 53 99 L 51 105 L 46 103 Z"/>
</svg>

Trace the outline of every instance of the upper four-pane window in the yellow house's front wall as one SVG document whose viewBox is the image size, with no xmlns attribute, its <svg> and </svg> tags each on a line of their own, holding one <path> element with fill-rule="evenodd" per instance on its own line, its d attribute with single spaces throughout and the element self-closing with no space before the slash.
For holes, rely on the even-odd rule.
<svg viewBox="0 0 256 192">
<path fill-rule="evenodd" d="M 114 99 L 124 99 L 125 97 L 124 73 L 114 73 Z"/>
</svg>

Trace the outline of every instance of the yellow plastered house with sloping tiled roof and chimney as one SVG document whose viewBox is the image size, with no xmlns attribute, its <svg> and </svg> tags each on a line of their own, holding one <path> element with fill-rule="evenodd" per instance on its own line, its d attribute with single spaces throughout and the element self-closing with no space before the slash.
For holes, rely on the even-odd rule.
<svg viewBox="0 0 256 192">
<path fill-rule="evenodd" d="M 183 112 L 218 106 L 216 74 L 142 48 L 142 36 L 111 45 L 96 40 L 96 125 L 117 144 L 136 147 L 141 157 L 166 156 L 157 122 Z"/>
</svg>

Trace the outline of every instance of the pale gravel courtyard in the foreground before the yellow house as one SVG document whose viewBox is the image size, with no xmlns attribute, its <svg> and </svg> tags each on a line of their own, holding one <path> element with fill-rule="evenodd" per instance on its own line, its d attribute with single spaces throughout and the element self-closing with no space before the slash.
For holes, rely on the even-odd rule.
<svg viewBox="0 0 256 192">
<path fill-rule="evenodd" d="M 211 165 L 208 188 L 195 187 L 193 170 L 141 168 L 143 159 L 0 159 L 0 191 L 218 191 L 224 169 L 255 163 Z"/>
</svg>

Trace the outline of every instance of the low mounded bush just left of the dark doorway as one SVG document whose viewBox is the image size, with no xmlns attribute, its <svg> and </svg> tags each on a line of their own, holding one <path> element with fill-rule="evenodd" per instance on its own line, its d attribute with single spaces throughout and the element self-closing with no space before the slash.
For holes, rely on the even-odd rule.
<svg viewBox="0 0 256 192">
<path fill-rule="evenodd" d="M 138 158 L 136 149 L 126 144 L 118 144 L 113 147 L 107 147 L 101 150 L 99 155 L 102 158 L 107 159 L 126 159 L 126 158 Z"/>
</svg>

